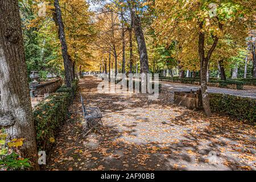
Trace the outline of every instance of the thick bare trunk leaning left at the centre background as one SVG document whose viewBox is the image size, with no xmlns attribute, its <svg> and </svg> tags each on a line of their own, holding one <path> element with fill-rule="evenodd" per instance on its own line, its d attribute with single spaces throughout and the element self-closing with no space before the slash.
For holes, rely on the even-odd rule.
<svg viewBox="0 0 256 182">
<path fill-rule="evenodd" d="M 129 3 L 129 2 L 128 2 Z M 138 43 L 138 52 L 139 52 L 139 61 L 141 64 L 141 73 L 148 73 L 148 56 L 147 56 L 147 47 L 144 39 L 142 27 L 141 27 L 141 19 L 136 13 L 136 8 L 132 7 L 129 3 L 131 19 L 133 19 L 133 28 L 135 32 L 135 36 L 137 38 Z"/>
</svg>

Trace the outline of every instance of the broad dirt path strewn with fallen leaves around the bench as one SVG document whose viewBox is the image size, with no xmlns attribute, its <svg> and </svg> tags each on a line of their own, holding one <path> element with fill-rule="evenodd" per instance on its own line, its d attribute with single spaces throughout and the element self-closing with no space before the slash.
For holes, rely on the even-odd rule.
<svg viewBox="0 0 256 182">
<path fill-rule="evenodd" d="M 61 127 L 46 169 L 256 169 L 255 127 L 173 105 L 164 90 L 156 101 L 144 94 L 98 93 L 98 82 L 85 77 L 79 90 L 87 104 L 100 107 L 104 135 L 82 136 L 77 96 L 72 119 Z"/>
</svg>

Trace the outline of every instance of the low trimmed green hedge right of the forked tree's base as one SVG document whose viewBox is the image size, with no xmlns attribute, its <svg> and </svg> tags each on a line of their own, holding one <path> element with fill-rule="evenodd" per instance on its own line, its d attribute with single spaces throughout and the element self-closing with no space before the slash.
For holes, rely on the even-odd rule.
<svg viewBox="0 0 256 182">
<path fill-rule="evenodd" d="M 230 115 L 242 121 L 255 123 L 256 100 L 228 94 L 210 93 L 210 109 L 215 113 Z"/>
</svg>

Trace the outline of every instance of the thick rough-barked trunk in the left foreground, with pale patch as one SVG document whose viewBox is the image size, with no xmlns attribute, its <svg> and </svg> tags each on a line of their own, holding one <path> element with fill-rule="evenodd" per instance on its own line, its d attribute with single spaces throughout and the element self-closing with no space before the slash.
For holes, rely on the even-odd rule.
<svg viewBox="0 0 256 182">
<path fill-rule="evenodd" d="M 39 170 L 18 1 L 0 1 L 0 24 L 0 127 L 25 139 L 20 152 Z"/>
</svg>

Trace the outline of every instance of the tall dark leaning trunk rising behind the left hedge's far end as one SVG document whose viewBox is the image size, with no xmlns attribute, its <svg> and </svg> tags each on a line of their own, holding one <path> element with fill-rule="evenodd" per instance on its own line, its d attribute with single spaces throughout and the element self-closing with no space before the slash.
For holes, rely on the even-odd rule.
<svg viewBox="0 0 256 182">
<path fill-rule="evenodd" d="M 62 51 L 62 57 L 64 61 L 64 68 L 65 68 L 65 81 L 68 88 L 71 88 L 71 82 L 72 82 L 72 63 L 71 60 L 68 57 L 68 47 L 65 39 L 65 32 L 64 32 L 64 24 L 61 17 L 61 10 L 60 10 L 60 4 L 59 0 L 54 1 L 55 11 L 56 11 L 56 18 L 57 23 L 59 26 L 59 38 L 61 43 L 61 51 Z"/>
</svg>

